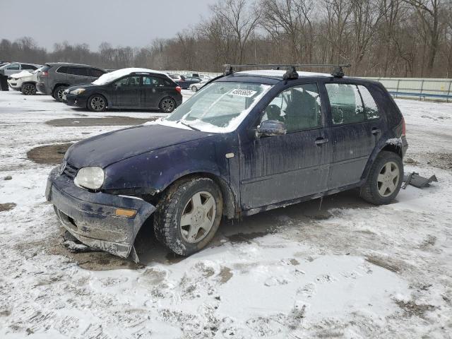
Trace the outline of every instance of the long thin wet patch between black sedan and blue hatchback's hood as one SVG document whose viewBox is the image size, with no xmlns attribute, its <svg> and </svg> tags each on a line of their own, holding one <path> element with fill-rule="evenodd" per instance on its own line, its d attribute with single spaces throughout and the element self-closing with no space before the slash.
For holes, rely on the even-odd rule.
<svg viewBox="0 0 452 339">
<path fill-rule="evenodd" d="M 83 114 L 81 114 L 83 115 Z M 134 126 L 148 121 L 154 121 L 157 117 L 132 118 L 108 116 L 105 118 L 65 118 L 46 121 L 47 125 L 55 127 L 85 127 L 85 126 Z"/>
</svg>

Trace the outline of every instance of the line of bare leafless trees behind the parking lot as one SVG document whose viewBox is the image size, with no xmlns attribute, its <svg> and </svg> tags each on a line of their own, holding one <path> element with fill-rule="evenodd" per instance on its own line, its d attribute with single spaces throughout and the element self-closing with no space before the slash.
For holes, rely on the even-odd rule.
<svg viewBox="0 0 452 339">
<path fill-rule="evenodd" d="M 452 0 L 220 0 L 207 18 L 141 48 L 1 40 L 0 60 L 106 69 L 223 71 L 223 64 L 352 64 L 357 76 L 452 76 Z"/>
</svg>

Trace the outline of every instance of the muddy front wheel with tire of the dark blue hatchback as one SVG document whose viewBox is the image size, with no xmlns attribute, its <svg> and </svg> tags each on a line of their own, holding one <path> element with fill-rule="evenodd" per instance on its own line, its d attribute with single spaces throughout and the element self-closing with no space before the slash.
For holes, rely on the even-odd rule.
<svg viewBox="0 0 452 339">
<path fill-rule="evenodd" d="M 195 196 L 202 197 L 203 194 L 207 198 L 204 202 L 200 200 L 201 208 L 194 208 L 193 199 Z M 213 198 L 213 201 L 210 201 L 210 198 Z M 203 222 L 212 223 L 208 232 L 202 227 L 198 230 L 194 227 L 196 234 L 191 238 L 192 241 L 189 241 L 192 225 L 181 226 L 182 215 L 187 208 L 190 209 L 190 205 L 190 213 L 184 215 L 188 216 L 192 223 L 198 222 L 198 225 Z M 207 207 L 203 208 L 204 206 Z M 210 213 L 210 218 L 209 210 L 210 212 L 215 210 L 215 215 Z M 157 210 L 154 213 L 155 237 L 175 254 L 189 256 L 203 249 L 212 240 L 221 218 L 222 195 L 217 184 L 212 179 L 203 177 L 182 179 L 170 186 L 157 204 Z"/>
</svg>

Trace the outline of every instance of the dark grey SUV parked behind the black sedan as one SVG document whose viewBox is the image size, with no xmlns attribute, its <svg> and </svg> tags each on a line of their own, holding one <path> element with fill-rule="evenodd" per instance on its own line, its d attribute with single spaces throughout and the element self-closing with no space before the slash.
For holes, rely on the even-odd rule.
<svg viewBox="0 0 452 339">
<path fill-rule="evenodd" d="M 92 83 L 107 73 L 104 69 L 66 62 L 47 63 L 37 76 L 37 90 L 61 101 L 63 92 L 72 85 Z"/>
</svg>

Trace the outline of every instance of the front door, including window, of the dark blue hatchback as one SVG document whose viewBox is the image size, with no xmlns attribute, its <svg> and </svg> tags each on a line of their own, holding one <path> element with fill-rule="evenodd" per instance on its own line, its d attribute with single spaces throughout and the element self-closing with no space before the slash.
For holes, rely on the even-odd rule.
<svg viewBox="0 0 452 339">
<path fill-rule="evenodd" d="M 324 111 L 317 83 L 293 85 L 270 102 L 257 125 L 279 120 L 287 133 L 242 142 L 244 210 L 326 191 L 331 146 Z"/>
</svg>

